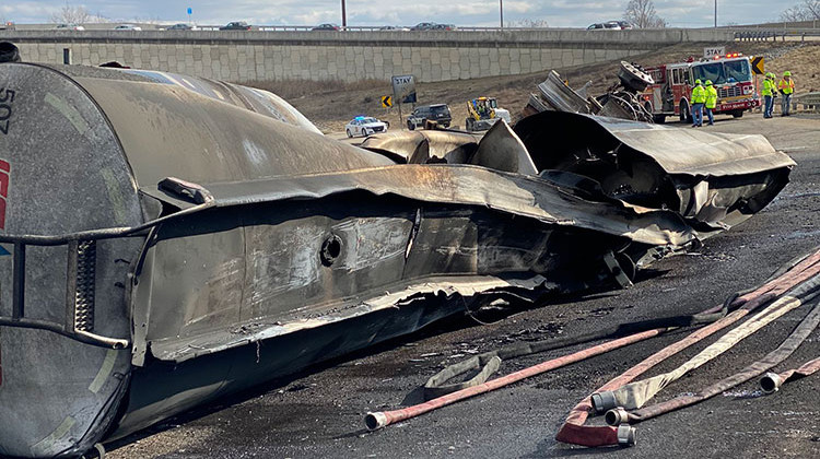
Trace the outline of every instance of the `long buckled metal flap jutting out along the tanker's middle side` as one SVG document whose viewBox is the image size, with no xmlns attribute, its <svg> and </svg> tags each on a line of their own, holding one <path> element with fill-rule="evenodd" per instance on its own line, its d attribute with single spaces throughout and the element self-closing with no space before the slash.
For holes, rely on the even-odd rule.
<svg viewBox="0 0 820 459">
<path fill-rule="evenodd" d="M 206 185 L 216 207 L 317 199 L 363 190 L 420 202 L 477 205 L 547 224 L 593 229 L 649 245 L 682 246 L 694 233 L 676 213 L 624 205 L 551 180 L 470 165 L 403 165 Z"/>
</svg>

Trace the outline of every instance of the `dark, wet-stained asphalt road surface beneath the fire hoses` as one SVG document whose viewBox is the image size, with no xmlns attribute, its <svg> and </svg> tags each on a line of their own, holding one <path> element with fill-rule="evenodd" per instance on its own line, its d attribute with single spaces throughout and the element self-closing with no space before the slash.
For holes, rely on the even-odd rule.
<svg viewBox="0 0 820 459">
<path fill-rule="evenodd" d="M 688 129 L 688 128 L 686 128 Z M 495 392 L 367 433 L 367 411 L 422 401 L 418 388 L 468 350 L 489 351 L 607 325 L 692 314 L 754 286 L 820 242 L 820 117 L 763 120 L 721 117 L 715 131 L 762 133 L 792 155 L 792 183 L 766 209 L 708 239 L 696 254 L 672 257 L 643 272 L 634 287 L 561 299 L 493 325 L 470 318 L 337 360 L 151 427 L 114 445 L 110 458 L 242 457 L 820 457 L 820 375 L 761 397 L 757 380 L 698 405 L 636 426 L 631 448 L 587 449 L 554 440 L 567 411 L 590 391 L 684 333 L 655 338 L 537 376 Z M 807 307 L 789 313 L 731 351 L 661 391 L 655 401 L 695 392 L 761 357 L 792 331 Z M 678 366 L 705 340 L 647 376 Z M 503 373 L 565 353 L 502 364 Z M 458 355 L 461 354 L 459 357 Z M 815 331 L 783 370 L 820 355 Z M 598 422 L 600 422 L 598 420 Z"/>
</svg>

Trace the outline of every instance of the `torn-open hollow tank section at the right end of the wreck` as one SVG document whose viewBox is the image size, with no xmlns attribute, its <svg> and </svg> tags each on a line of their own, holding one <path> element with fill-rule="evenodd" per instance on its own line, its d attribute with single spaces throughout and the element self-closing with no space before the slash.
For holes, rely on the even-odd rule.
<svg viewBox="0 0 820 459">
<path fill-rule="evenodd" d="M 515 127 L 540 170 L 586 176 L 612 198 L 690 219 L 702 237 L 764 208 L 794 161 L 758 134 L 718 134 L 544 111 Z"/>
</svg>

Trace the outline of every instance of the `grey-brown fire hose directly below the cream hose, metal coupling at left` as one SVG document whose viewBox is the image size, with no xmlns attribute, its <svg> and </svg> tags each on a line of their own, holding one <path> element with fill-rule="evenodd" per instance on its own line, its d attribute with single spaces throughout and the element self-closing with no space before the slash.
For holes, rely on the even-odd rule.
<svg viewBox="0 0 820 459">
<path fill-rule="evenodd" d="M 765 370 L 788 358 L 788 356 L 792 355 L 800 344 L 803 344 L 806 338 L 817 329 L 818 325 L 820 325 L 820 302 L 815 303 L 812 310 L 806 316 L 800 325 L 795 328 L 792 334 L 789 334 L 789 337 L 777 346 L 777 349 L 735 375 L 724 378 L 693 396 L 676 397 L 666 402 L 657 403 L 633 412 L 626 412 L 626 410 L 621 407 L 616 408 L 607 412 L 605 420 L 609 425 L 637 424 L 660 414 L 690 407 L 715 397 L 725 390 L 731 389 L 737 385 L 760 376 Z"/>
</svg>

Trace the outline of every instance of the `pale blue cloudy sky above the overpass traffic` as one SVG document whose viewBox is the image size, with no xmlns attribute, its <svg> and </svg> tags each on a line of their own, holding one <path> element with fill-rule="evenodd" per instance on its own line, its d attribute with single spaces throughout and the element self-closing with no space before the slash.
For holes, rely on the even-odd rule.
<svg viewBox="0 0 820 459">
<path fill-rule="evenodd" d="M 585 27 L 621 19 L 628 0 L 504 0 L 504 22 L 543 20 L 553 27 Z M 718 0 L 718 24 L 776 21 L 798 1 Z M 66 0 L 0 2 L 0 19 L 47 23 Z M 69 0 L 113 21 L 187 22 L 187 8 L 199 24 L 244 20 L 251 24 L 315 25 L 341 23 L 341 0 Z M 714 0 L 655 0 L 655 8 L 675 27 L 706 27 L 714 22 Z M 412 25 L 422 21 L 461 26 L 499 25 L 499 0 L 347 0 L 348 25 Z M 763 14 L 768 11 L 768 14 Z"/>
</svg>

